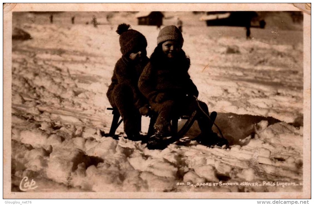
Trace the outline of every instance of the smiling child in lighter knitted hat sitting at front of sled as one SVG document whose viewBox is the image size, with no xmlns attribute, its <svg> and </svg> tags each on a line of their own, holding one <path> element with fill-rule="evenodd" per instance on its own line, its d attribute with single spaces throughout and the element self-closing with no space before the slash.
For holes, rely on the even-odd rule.
<svg viewBox="0 0 314 205">
<path fill-rule="evenodd" d="M 149 138 L 149 149 L 160 147 L 162 138 L 169 136 L 168 127 L 173 115 L 190 115 L 197 110 L 198 89 L 192 82 L 188 69 L 190 59 L 182 50 L 182 33 L 176 26 L 166 26 L 157 37 L 157 47 L 150 57 L 138 81 L 139 90 L 149 100 L 151 109 L 158 113 L 154 124 L 155 134 Z M 195 96 L 195 97 L 194 97 Z M 208 107 L 198 101 L 201 109 L 209 116 Z M 197 112 L 201 137 L 209 137 L 212 122 Z"/>
</svg>

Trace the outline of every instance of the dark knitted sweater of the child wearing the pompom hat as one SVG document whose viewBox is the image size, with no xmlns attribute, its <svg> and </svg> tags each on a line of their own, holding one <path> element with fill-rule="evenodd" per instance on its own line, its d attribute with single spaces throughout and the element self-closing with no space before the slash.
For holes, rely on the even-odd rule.
<svg viewBox="0 0 314 205">
<path fill-rule="evenodd" d="M 136 108 L 141 108 L 147 104 L 147 100 L 138 89 L 138 78 L 143 72 L 143 68 L 149 62 L 149 58 L 145 57 L 140 63 L 133 63 L 127 58 L 121 57 L 117 62 L 111 78 L 111 84 L 107 91 L 108 99 L 116 84 L 127 84 L 134 94 L 134 105 Z"/>
</svg>

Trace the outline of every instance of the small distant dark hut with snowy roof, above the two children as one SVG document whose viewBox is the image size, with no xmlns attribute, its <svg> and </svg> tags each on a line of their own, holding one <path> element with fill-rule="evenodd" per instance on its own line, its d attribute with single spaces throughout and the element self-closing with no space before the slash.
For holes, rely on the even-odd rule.
<svg viewBox="0 0 314 205">
<path fill-rule="evenodd" d="M 164 18 L 164 14 L 160 11 L 139 12 L 136 17 L 138 19 L 138 25 L 160 26 L 162 25 L 162 18 Z"/>
</svg>

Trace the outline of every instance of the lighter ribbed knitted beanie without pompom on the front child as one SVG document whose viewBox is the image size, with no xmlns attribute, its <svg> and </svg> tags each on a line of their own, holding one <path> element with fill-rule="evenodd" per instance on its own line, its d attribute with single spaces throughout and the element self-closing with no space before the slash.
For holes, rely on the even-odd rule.
<svg viewBox="0 0 314 205">
<path fill-rule="evenodd" d="M 160 30 L 157 37 L 157 45 L 167 40 L 175 40 L 180 47 L 183 46 L 183 37 L 181 31 L 176 26 L 166 26 Z"/>
</svg>

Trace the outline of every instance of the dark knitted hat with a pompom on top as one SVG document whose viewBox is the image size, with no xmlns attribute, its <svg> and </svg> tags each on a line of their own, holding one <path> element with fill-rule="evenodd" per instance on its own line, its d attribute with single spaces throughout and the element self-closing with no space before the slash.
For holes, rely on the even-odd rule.
<svg viewBox="0 0 314 205">
<path fill-rule="evenodd" d="M 137 30 L 129 29 L 130 27 L 129 24 L 120 24 L 116 30 L 120 35 L 119 42 L 122 55 L 147 47 L 145 36 Z"/>
</svg>

